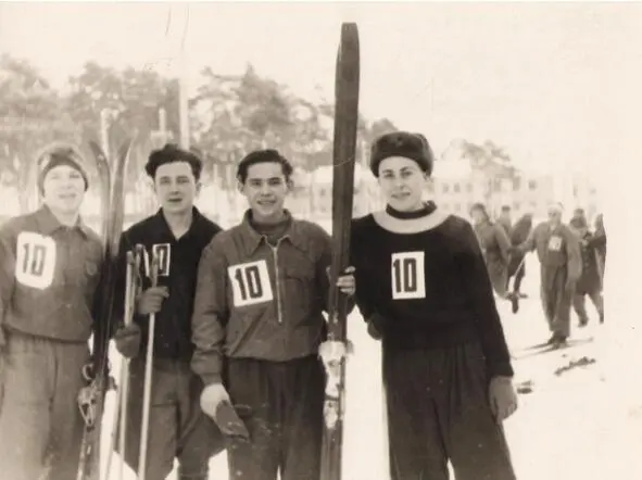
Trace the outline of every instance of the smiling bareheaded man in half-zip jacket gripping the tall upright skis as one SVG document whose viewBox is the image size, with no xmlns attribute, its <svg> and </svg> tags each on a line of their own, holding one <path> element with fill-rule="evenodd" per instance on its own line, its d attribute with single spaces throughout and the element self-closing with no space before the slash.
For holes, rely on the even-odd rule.
<svg viewBox="0 0 642 480">
<path fill-rule="evenodd" d="M 230 480 L 318 479 L 330 237 L 284 209 L 292 166 L 276 150 L 248 154 L 237 179 L 250 210 L 203 251 L 193 370 L 212 417 L 231 402 L 250 433 L 230 439 Z M 354 292 L 344 275 L 338 287 Z"/>
</svg>

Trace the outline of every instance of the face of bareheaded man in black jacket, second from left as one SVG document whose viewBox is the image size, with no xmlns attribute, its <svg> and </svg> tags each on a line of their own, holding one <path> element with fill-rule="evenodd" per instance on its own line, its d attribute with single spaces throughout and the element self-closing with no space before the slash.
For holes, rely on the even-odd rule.
<svg viewBox="0 0 642 480">
<path fill-rule="evenodd" d="M 161 207 L 166 213 L 191 211 L 200 189 L 188 162 L 165 163 L 154 175 L 154 191 Z"/>
</svg>

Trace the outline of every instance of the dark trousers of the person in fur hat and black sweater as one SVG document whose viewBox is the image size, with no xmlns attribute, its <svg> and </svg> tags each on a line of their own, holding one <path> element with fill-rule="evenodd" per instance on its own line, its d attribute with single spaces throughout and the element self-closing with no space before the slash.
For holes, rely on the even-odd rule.
<svg viewBox="0 0 642 480">
<path fill-rule="evenodd" d="M 515 480 L 503 428 L 492 415 L 481 348 L 383 346 L 390 478 Z"/>
</svg>

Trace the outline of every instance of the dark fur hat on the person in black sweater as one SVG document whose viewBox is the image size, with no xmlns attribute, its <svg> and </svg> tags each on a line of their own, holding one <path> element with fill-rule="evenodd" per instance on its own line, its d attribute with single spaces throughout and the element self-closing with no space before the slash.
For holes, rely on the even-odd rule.
<svg viewBox="0 0 642 480">
<path fill-rule="evenodd" d="M 435 155 L 428 140 L 421 134 L 392 131 L 380 136 L 370 149 L 370 169 L 379 177 L 379 164 L 390 156 L 404 156 L 417 162 L 428 176 L 432 174 Z"/>
</svg>

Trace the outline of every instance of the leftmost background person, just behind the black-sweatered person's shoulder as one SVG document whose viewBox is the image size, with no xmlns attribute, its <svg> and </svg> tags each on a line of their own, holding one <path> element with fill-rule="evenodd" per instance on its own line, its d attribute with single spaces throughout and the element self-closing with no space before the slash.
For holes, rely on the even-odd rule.
<svg viewBox="0 0 642 480">
<path fill-rule="evenodd" d="M 470 217 L 475 224 L 475 233 L 481 247 L 493 290 L 499 296 L 506 298 L 507 267 L 511 258 L 508 236 L 502 227 L 491 222 L 486 206 L 481 203 L 473 205 Z"/>
</svg>

